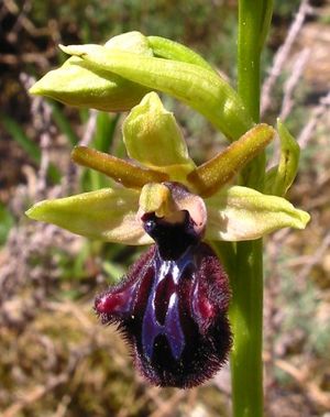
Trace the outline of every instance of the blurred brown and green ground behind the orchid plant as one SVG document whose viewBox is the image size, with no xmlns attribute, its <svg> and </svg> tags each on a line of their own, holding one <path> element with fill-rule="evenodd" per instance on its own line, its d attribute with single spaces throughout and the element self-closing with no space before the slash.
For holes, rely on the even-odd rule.
<svg viewBox="0 0 330 417">
<path fill-rule="evenodd" d="M 105 43 L 138 30 L 202 54 L 235 80 L 234 0 L 2 0 L 0 3 L 0 414 L 230 416 L 228 367 L 190 391 L 148 386 L 122 339 L 102 328 L 94 297 L 141 250 L 92 242 L 29 221 L 33 202 L 107 186 L 69 161 L 82 141 L 124 156 L 124 114 L 77 110 L 28 88 L 65 56 L 57 44 Z M 265 414 L 330 416 L 330 3 L 277 0 L 263 55 L 263 120 L 276 117 L 301 146 L 288 198 L 305 231 L 265 244 Z M 202 117 L 164 97 L 197 163 L 226 142 Z M 270 149 L 270 164 L 276 162 Z M 275 156 L 274 156 L 275 155 Z"/>
</svg>

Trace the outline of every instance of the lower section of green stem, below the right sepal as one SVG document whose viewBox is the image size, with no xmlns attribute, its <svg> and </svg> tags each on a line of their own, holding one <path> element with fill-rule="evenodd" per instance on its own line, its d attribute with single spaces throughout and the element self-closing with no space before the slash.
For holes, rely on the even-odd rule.
<svg viewBox="0 0 330 417">
<path fill-rule="evenodd" d="M 231 353 L 233 416 L 263 415 L 262 240 L 240 242 L 232 275 L 231 321 L 234 348 Z"/>
</svg>

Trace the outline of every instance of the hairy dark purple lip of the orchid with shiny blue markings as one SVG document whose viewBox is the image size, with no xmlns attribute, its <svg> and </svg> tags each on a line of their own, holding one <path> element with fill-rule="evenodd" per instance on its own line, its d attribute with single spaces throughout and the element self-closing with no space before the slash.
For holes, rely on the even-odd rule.
<svg viewBox="0 0 330 417">
<path fill-rule="evenodd" d="M 188 213 L 183 224 L 154 215 L 143 221 L 156 244 L 97 297 L 95 308 L 103 323 L 119 323 L 150 382 L 191 387 L 227 360 L 228 278 L 212 249 L 194 234 Z"/>
</svg>

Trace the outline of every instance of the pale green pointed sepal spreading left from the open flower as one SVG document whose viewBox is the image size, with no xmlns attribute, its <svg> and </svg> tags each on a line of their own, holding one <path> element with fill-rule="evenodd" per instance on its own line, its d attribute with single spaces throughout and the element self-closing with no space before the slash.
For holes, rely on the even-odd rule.
<svg viewBox="0 0 330 417">
<path fill-rule="evenodd" d="M 105 188 L 40 201 L 26 211 L 26 216 L 90 239 L 134 245 L 148 244 L 152 239 L 136 220 L 139 195 L 125 188 Z"/>
</svg>

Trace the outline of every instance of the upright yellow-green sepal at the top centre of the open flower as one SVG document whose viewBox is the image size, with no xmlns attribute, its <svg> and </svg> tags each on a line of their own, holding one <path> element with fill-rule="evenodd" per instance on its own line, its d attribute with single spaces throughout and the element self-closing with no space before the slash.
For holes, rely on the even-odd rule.
<svg viewBox="0 0 330 417">
<path fill-rule="evenodd" d="M 130 157 L 168 174 L 172 180 L 185 180 L 195 168 L 173 113 L 156 92 L 131 110 L 123 123 L 123 140 Z"/>
</svg>

